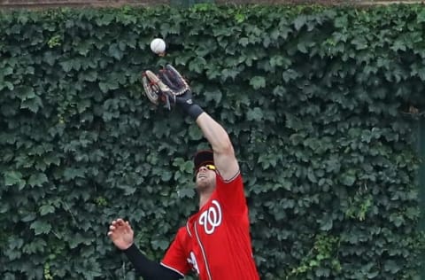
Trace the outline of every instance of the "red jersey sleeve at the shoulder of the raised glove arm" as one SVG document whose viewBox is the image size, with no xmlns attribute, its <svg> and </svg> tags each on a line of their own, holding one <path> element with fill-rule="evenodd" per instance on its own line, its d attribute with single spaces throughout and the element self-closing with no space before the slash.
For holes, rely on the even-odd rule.
<svg viewBox="0 0 425 280">
<path fill-rule="evenodd" d="M 240 172 L 230 180 L 223 180 L 217 174 L 217 194 L 223 206 L 233 214 L 246 214 L 246 198 L 243 192 L 243 179 Z"/>
</svg>

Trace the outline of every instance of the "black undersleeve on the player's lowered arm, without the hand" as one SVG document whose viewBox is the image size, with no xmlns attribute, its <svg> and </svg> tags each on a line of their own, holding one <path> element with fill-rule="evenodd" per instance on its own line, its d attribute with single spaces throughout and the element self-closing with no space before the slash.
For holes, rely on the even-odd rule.
<svg viewBox="0 0 425 280">
<path fill-rule="evenodd" d="M 135 267 L 135 272 L 143 276 L 143 280 L 177 280 L 183 277 L 174 270 L 161 266 L 158 262 L 148 260 L 135 244 L 123 252 Z"/>
</svg>

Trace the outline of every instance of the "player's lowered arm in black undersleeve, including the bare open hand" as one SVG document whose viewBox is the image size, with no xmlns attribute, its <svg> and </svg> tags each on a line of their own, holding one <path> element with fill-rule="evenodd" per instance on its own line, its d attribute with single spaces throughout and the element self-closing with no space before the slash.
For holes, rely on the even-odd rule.
<svg viewBox="0 0 425 280">
<path fill-rule="evenodd" d="M 182 276 L 175 271 L 160 265 L 158 262 L 148 260 L 134 244 L 134 232 L 128 222 L 117 219 L 111 222 L 108 231 L 114 245 L 126 253 L 128 260 L 135 267 L 135 271 L 143 276 L 144 280 L 178 280 Z"/>
</svg>

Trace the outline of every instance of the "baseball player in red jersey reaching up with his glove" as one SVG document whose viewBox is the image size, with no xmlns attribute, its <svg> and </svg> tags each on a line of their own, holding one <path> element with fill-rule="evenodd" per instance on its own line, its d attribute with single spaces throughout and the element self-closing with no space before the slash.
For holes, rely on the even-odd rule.
<svg viewBox="0 0 425 280">
<path fill-rule="evenodd" d="M 173 66 L 167 65 L 158 75 L 146 71 L 143 79 L 152 102 L 181 107 L 212 146 L 194 157 L 199 211 L 177 231 L 160 263 L 140 252 L 128 222 L 112 221 L 108 236 L 144 280 L 181 279 L 191 271 L 200 280 L 258 280 L 243 179 L 228 133 L 193 102 L 189 85 Z"/>
</svg>

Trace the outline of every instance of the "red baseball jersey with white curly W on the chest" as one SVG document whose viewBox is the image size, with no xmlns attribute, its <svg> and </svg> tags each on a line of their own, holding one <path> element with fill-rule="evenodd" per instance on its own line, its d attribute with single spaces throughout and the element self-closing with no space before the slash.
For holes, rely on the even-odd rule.
<svg viewBox="0 0 425 280">
<path fill-rule="evenodd" d="M 251 249 L 248 206 L 240 173 L 228 182 L 217 175 L 211 198 L 178 230 L 161 264 L 200 280 L 258 280 Z"/>
</svg>

